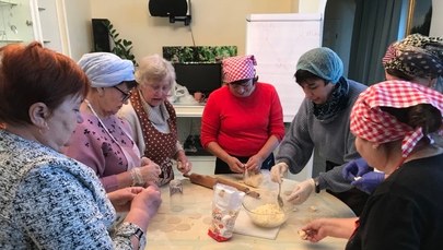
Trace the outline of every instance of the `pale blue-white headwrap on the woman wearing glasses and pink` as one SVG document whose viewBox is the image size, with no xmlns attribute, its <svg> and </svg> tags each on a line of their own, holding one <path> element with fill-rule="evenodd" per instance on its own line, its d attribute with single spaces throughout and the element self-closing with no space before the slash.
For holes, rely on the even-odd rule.
<svg viewBox="0 0 443 250">
<path fill-rule="evenodd" d="M 109 52 L 85 53 L 79 60 L 92 87 L 112 87 L 123 81 L 135 81 L 133 63 Z"/>
</svg>

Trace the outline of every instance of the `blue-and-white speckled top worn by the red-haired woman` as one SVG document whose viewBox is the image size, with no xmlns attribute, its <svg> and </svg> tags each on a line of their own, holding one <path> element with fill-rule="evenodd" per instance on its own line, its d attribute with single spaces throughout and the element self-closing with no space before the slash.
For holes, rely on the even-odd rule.
<svg viewBox="0 0 443 250">
<path fill-rule="evenodd" d="M 0 249 L 131 249 L 94 171 L 0 130 Z"/>
</svg>

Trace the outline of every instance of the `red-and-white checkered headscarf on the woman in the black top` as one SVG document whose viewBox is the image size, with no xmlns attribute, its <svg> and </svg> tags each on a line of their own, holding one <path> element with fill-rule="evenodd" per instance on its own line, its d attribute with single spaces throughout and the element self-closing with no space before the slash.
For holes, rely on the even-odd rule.
<svg viewBox="0 0 443 250">
<path fill-rule="evenodd" d="M 360 94 L 352 108 L 351 132 L 370 142 L 387 143 L 403 140 L 401 153 L 406 158 L 423 138 L 422 128 L 413 129 L 380 107 L 407 108 L 418 104 L 434 106 L 443 119 L 443 95 L 439 92 L 406 81 L 374 84 Z M 441 132 L 442 129 L 439 133 Z"/>
</svg>

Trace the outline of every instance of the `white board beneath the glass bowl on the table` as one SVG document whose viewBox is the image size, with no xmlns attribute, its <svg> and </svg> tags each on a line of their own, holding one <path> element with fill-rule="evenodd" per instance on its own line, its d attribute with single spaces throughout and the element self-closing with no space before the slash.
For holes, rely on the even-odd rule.
<svg viewBox="0 0 443 250">
<path fill-rule="evenodd" d="M 280 227 L 264 228 L 256 226 L 242 207 L 240 210 L 237 219 L 235 221 L 234 233 L 246 236 L 254 236 L 265 239 L 276 239 L 279 234 Z"/>
</svg>

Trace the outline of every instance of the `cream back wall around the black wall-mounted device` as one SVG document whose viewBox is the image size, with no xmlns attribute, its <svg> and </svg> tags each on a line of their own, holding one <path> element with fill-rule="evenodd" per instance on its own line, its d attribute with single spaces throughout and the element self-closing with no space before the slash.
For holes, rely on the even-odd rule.
<svg viewBox="0 0 443 250">
<path fill-rule="evenodd" d="M 246 16 L 250 13 L 290 13 L 294 0 L 191 0 L 193 20 L 171 24 L 152 17 L 148 0 L 91 0 L 93 19 L 108 19 L 120 37 L 132 40 L 136 60 L 161 53 L 163 46 L 234 45 L 245 52 Z"/>
</svg>

